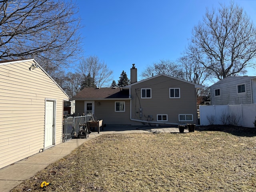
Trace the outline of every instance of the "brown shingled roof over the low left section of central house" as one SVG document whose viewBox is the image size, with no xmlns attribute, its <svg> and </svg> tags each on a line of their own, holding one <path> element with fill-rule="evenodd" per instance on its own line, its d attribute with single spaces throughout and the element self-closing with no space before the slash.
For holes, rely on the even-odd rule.
<svg viewBox="0 0 256 192">
<path fill-rule="evenodd" d="M 122 88 L 92 88 L 87 87 L 78 92 L 73 99 L 111 99 L 129 98 L 129 91 Z"/>
</svg>

